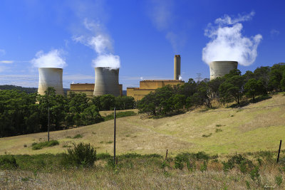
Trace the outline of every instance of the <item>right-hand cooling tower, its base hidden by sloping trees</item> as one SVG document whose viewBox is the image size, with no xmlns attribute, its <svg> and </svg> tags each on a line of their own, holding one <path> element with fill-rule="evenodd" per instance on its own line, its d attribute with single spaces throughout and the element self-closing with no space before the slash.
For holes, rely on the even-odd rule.
<svg viewBox="0 0 285 190">
<path fill-rule="evenodd" d="M 212 61 L 209 63 L 209 79 L 223 77 L 233 69 L 237 69 L 237 61 Z"/>
</svg>

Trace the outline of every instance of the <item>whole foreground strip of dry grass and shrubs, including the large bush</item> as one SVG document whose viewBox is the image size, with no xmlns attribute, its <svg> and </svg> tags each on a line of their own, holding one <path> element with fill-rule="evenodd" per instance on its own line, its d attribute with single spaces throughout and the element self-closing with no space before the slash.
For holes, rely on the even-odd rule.
<svg viewBox="0 0 285 190">
<path fill-rule="evenodd" d="M 284 154 L 284 152 L 281 152 Z M 90 144 L 74 144 L 64 154 L 1 155 L 4 189 L 284 189 L 285 158 L 276 152 L 223 157 L 184 152 L 96 154 Z M 201 183 L 202 181 L 202 183 Z"/>
</svg>

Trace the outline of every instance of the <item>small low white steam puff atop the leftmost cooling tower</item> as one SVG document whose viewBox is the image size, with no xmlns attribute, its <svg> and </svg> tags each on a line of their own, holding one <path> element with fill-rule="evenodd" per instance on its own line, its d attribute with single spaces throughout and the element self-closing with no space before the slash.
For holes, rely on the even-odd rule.
<svg viewBox="0 0 285 190">
<path fill-rule="evenodd" d="M 38 51 L 36 58 L 33 58 L 31 63 L 37 68 L 63 68 L 66 66 L 66 60 L 62 56 L 62 52 L 56 49 L 48 53 Z"/>
</svg>

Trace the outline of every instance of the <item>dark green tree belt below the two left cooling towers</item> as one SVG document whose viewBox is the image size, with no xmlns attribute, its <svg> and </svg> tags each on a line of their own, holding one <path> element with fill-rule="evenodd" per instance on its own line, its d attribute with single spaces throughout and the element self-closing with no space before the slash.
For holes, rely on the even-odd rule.
<svg viewBox="0 0 285 190">
<path fill-rule="evenodd" d="M 102 122 L 101 110 L 127 110 L 135 107 L 133 97 L 86 94 L 56 95 L 48 88 L 45 95 L 19 90 L 0 90 L 0 137 L 45 132 Z"/>
</svg>

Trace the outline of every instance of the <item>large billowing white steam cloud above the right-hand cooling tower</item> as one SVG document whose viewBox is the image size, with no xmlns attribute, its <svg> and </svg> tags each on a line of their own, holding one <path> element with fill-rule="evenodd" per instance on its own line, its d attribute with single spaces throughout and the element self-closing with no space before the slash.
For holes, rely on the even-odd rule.
<svg viewBox="0 0 285 190">
<path fill-rule="evenodd" d="M 239 15 L 232 19 L 228 15 L 214 21 L 215 26 L 209 23 L 204 35 L 211 40 L 202 50 L 202 60 L 209 64 L 217 60 L 234 60 L 240 65 L 251 65 L 257 58 L 257 46 L 262 36 L 257 34 L 250 38 L 242 36 L 241 21 L 249 21 L 254 16 L 250 14 Z"/>
</svg>

